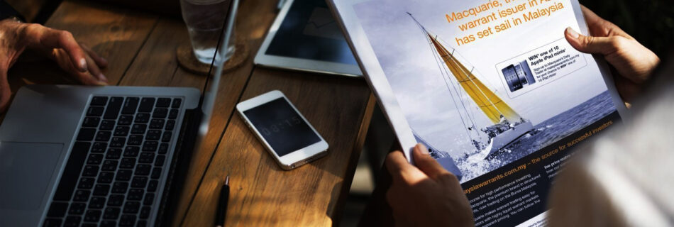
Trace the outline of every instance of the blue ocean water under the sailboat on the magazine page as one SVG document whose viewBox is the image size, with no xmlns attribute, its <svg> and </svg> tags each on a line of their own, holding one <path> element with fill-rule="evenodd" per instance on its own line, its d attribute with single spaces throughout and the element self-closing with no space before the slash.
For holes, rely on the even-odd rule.
<svg viewBox="0 0 674 227">
<path fill-rule="evenodd" d="M 510 162 L 536 152 L 547 145 L 557 142 L 568 135 L 599 121 L 604 116 L 612 114 L 616 108 L 609 92 L 599 94 L 573 109 L 563 112 L 543 123 L 534 126 L 534 131 L 517 139 L 508 147 L 502 149 L 492 157 L 478 162 L 470 162 L 470 158 L 462 157 L 456 164 L 463 172 L 461 182 L 479 177 L 487 172 L 496 170 Z"/>
</svg>

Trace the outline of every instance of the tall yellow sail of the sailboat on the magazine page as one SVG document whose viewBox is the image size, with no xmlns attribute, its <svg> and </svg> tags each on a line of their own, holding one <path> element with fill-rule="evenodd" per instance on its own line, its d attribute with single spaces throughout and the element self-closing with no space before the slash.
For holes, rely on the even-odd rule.
<svg viewBox="0 0 674 227">
<path fill-rule="evenodd" d="M 449 68 L 449 70 L 454 74 L 456 80 L 459 82 L 463 90 L 470 96 L 470 98 L 475 101 L 482 112 L 487 115 L 487 117 L 492 121 L 492 123 L 499 123 L 501 121 L 501 115 L 503 115 L 508 121 L 520 121 L 519 114 L 515 113 L 508 104 L 506 104 L 499 96 L 494 94 L 492 90 L 487 89 L 485 84 L 482 84 L 479 79 L 475 77 L 473 72 L 470 72 L 468 69 L 461 64 L 456 57 L 452 55 L 443 45 L 441 45 L 436 38 L 428 33 L 431 42 L 438 50 L 438 54 L 442 57 L 443 62 Z"/>
</svg>

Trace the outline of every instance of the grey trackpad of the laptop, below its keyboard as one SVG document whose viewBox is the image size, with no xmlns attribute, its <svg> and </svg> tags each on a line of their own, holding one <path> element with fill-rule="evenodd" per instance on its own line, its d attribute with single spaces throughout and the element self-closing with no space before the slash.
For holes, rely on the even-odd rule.
<svg viewBox="0 0 674 227">
<path fill-rule="evenodd" d="M 38 209 L 63 145 L 0 142 L 0 209 Z"/>
</svg>

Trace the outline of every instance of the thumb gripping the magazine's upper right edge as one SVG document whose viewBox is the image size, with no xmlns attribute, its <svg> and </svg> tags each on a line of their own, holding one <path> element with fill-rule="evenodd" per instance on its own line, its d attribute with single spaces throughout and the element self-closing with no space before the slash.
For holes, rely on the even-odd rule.
<svg viewBox="0 0 674 227">
<path fill-rule="evenodd" d="M 621 39 L 625 39 L 618 35 L 609 37 L 581 35 L 570 27 L 566 28 L 564 35 L 569 44 L 576 50 L 588 54 L 600 55 L 610 55 L 617 52 L 622 43 Z"/>
</svg>

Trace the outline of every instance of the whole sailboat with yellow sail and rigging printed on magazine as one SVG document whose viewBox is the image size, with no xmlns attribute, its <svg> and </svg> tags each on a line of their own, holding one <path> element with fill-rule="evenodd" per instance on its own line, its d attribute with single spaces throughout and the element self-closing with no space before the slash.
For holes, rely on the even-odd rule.
<svg viewBox="0 0 674 227">
<path fill-rule="evenodd" d="M 431 52 L 436 57 L 443 79 L 446 81 L 447 89 L 452 94 L 460 120 L 463 121 L 463 126 L 468 133 L 469 142 L 476 149 L 475 153 L 468 157 L 469 161 L 477 162 L 493 157 L 499 150 L 507 148 L 508 145 L 534 130 L 531 121 L 517 114 L 492 89 L 487 88 L 480 79 L 475 77 L 474 69 L 468 70 L 468 67 L 458 60 L 455 49 L 450 52 L 438 40 L 437 35 L 433 35 L 421 26 L 421 23 L 416 21 L 411 13 L 407 14 L 424 33 Z M 465 96 L 470 97 L 470 100 L 464 100 Z M 472 105 L 477 106 L 477 109 L 480 109 L 480 112 L 491 123 L 480 127 L 479 131 L 475 114 L 470 111 Z M 486 140 L 481 139 L 483 135 L 486 135 Z"/>
</svg>

